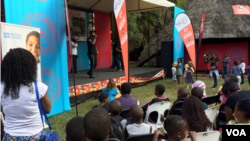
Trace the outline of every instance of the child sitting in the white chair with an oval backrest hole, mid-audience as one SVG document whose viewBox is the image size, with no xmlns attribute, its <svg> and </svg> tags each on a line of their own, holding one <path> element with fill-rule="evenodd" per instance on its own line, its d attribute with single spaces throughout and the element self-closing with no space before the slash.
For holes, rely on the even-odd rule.
<svg viewBox="0 0 250 141">
<path fill-rule="evenodd" d="M 154 94 L 155 94 L 155 96 L 157 96 L 157 98 L 154 98 L 154 99 L 152 99 L 151 102 L 149 102 L 148 108 L 149 108 L 150 105 L 152 105 L 152 104 L 154 104 L 154 103 L 156 103 L 156 102 L 170 101 L 170 100 L 168 99 L 168 97 L 164 97 L 164 96 L 163 96 L 164 92 L 165 92 L 165 86 L 162 85 L 162 84 L 157 84 L 157 85 L 155 86 L 155 91 L 154 91 Z M 159 115 L 158 115 L 157 112 L 152 112 L 152 113 L 149 115 L 149 121 L 150 121 L 151 123 L 155 123 L 155 124 L 156 124 L 158 116 L 159 116 Z"/>
</svg>

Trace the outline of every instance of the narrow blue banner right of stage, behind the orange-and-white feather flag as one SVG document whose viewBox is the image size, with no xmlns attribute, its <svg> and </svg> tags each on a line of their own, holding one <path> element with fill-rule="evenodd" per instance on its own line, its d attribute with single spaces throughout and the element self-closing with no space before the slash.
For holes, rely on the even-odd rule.
<svg viewBox="0 0 250 141">
<path fill-rule="evenodd" d="M 174 18 L 176 18 L 176 16 L 179 13 L 184 13 L 184 12 L 185 10 L 180 9 L 178 7 L 174 7 Z M 174 49 L 173 51 L 174 51 L 173 61 L 177 63 L 178 58 L 184 57 L 184 42 L 181 39 L 181 35 L 179 34 L 175 26 L 174 26 Z M 181 71 L 183 70 L 183 66 L 184 65 L 181 66 Z"/>
</svg>

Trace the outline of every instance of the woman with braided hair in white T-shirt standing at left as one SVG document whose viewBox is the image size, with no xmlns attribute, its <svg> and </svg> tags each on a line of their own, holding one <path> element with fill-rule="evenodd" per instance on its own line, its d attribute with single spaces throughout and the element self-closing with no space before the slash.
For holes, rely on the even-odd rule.
<svg viewBox="0 0 250 141">
<path fill-rule="evenodd" d="M 11 49 L 0 65 L 0 103 L 5 114 L 3 140 L 38 141 L 45 137 L 34 86 L 36 81 L 34 55 L 22 48 Z M 48 86 L 37 82 L 37 87 L 41 104 L 50 113 Z"/>
</svg>

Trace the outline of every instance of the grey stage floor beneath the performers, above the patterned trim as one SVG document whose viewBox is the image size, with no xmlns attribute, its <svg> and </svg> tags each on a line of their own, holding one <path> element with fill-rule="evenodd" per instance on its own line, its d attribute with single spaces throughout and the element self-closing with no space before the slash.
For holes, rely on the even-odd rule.
<svg viewBox="0 0 250 141">
<path fill-rule="evenodd" d="M 161 70 L 163 70 L 163 68 L 133 67 L 133 68 L 129 68 L 129 75 L 142 77 L 142 78 L 152 78 Z M 89 78 L 89 75 L 87 75 L 87 72 L 88 70 L 84 70 L 84 71 L 79 71 L 79 73 L 75 74 L 76 86 L 98 82 L 98 81 L 104 81 L 109 78 L 119 78 L 119 77 L 125 76 L 124 71 L 116 72 L 116 71 L 111 71 L 109 68 L 103 68 L 103 69 L 95 69 L 94 70 L 95 78 L 92 79 L 92 78 Z M 73 74 L 69 73 L 69 87 L 71 86 L 73 86 Z"/>
</svg>

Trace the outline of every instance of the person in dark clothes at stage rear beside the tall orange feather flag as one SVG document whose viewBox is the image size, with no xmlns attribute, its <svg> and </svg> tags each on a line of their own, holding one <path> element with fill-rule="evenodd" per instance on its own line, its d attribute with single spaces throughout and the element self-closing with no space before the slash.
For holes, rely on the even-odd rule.
<svg viewBox="0 0 250 141">
<path fill-rule="evenodd" d="M 114 61 L 112 66 L 110 67 L 111 70 L 114 70 L 115 66 L 117 66 L 117 71 L 122 71 L 120 67 L 121 63 L 121 46 L 119 42 L 116 42 L 113 46 L 113 56 L 114 56 Z"/>
</svg>

